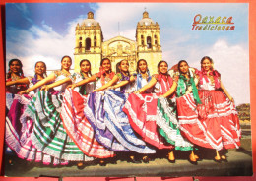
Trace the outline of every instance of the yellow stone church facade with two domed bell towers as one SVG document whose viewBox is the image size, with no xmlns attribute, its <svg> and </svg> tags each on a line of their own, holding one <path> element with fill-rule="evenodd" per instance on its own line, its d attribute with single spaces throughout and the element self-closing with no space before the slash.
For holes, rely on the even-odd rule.
<svg viewBox="0 0 256 181">
<path fill-rule="evenodd" d="M 93 12 L 89 12 L 88 18 L 76 26 L 75 71 L 80 70 L 79 63 L 82 59 L 88 59 L 91 62 L 92 73 L 96 73 L 100 67 L 100 60 L 107 57 L 111 60 L 114 71 L 116 64 L 126 59 L 130 72 L 134 73 L 137 61 L 145 59 L 151 74 L 157 73 L 157 65 L 162 59 L 160 27 L 149 18 L 146 11 L 137 24 L 135 37 L 136 40 L 132 40 L 119 35 L 103 41 L 100 24 L 94 19 Z"/>
</svg>

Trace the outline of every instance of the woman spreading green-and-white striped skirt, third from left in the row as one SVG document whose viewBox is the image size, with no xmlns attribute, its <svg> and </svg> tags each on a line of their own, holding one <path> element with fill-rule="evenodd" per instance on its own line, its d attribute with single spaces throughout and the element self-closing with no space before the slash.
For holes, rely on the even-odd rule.
<svg viewBox="0 0 256 181">
<path fill-rule="evenodd" d="M 72 60 L 64 56 L 61 60 L 61 70 L 54 71 L 47 78 L 35 84 L 25 92 L 33 91 L 40 86 L 43 91 L 38 91 L 25 113 L 34 120 L 32 144 L 43 153 L 61 160 L 88 161 L 93 160 L 80 151 L 72 139 L 67 135 L 60 119 L 62 92 L 70 82 L 70 67 Z M 55 81 L 50 85 L 48 82 Z M 54 88 L 55 94 L 50 94 L 49 89 Z M 57 92 L 57 93 L 56 93 Z"/>
</svg>

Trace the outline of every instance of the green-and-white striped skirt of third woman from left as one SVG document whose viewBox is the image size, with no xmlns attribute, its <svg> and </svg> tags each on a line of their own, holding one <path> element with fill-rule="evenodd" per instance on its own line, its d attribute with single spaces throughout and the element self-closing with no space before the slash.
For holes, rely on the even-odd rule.
<svg viewBox="0 0 256 181">
<path fill-rule="evenodd" d="M 67 135 L 60 119 L 62 95 L 38 91 L 25 112 L 34 120 L 32 144 L 43 153 L 69 161 L 91 161 Z"/>
</svg>

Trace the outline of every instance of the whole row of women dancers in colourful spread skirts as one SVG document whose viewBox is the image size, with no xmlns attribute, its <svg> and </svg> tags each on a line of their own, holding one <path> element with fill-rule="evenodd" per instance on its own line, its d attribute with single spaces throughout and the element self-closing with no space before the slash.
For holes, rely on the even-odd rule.
<svg viewBox="0 0 256 181">
<path fill-rule="evenodd" d="M 61 69 L 46 75 L 39 61 L 34 76 L 25 77 L 22 62 L 9 61 L 5 141 L 18 157 L 53 165 L 77 161 L 82 167 L 95 160 L 105 165 L 120 153 L 148 163 L 160 150 L 175 162 L 176 150 L 190 151 L 188 160 L 197 164 L 198 146 L 215 150 L 217 162 L 227 161 L 222 150 L 240 146 L 234 100 L 208 56 L 201 70 L 185 60 L 169 70 L 160 61 L 155 75 L 144 59 L 136 74 L 129 73 L 127 60 L 114 72 L 104 58 L 94 75 L 87 59 L 79 73 L 70 73 L 71 64 L 64 56 Z"/>
</svg>

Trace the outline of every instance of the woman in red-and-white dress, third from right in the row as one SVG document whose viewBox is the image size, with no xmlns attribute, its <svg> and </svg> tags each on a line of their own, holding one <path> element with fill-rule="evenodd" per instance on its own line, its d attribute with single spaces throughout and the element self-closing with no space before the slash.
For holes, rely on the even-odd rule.
<svg viewBox="0 0 256 181">
<path fill-rule="evenodd" d="M 128 115 L 132 128 L 143 138 L 143 140 L 158 149 L 173 149 L 173 146 L 165 143 L 157 126 L 158 95 L 168 91 L 172 85 L 172 79 L 167 74 L 168 64 L 160 61 L 158 64 L 158 75 L 153 75 L 151 81 L 129 95 L 123 111 Z M 148 89 L 154 88 L 153 94 L 140 94 Z M 169 160 L 174 161 L 173 152 Z"/>
</svg>

